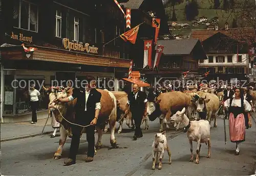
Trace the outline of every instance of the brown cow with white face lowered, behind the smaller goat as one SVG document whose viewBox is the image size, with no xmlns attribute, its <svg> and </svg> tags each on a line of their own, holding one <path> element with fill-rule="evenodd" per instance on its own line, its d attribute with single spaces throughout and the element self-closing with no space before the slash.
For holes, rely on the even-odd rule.
<svg viewBox="0 0 256 176">
<path fill-rule="evenodd" d="M 148 98 L 147 115 L 151 121 L 157 117 L 160 119 L 160 132 L 163 132 L 163 124 L 168 128 L 167 121 L 170 115 L 182 110 L 183 107 L 188 107 L 191 103 L 191 97 L 180 91 L 165 92 L 160 94 L 152 101 Z M 177 129 L 177 125 L 176 125 Z"/>
</svg>

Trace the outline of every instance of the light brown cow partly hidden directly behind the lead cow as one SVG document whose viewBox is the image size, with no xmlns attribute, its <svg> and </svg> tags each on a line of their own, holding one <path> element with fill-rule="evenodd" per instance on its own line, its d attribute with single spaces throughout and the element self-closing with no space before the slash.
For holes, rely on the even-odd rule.
<svg viewBox="0 0 256 176">
<path fill-rule="evenodd" d="M 126 124 L 130 129 L 135 128 L 134 121 L 132 119 L 132 113 L 128 111 L 127 114 L 125 114 L 126 110 L 126 104 L 128 100 L 127 93 L 124 91 L 111 91 L 116 97 L 117 100 L 117 121 L 119 122 L 119 127 L 117 133 L 120 134 L 122 132 L 122 127 L 123 127 L 123 121 L 126 119 Z M 132 122 L 132 126 L 131 126 Z M 106 125 L 104 129 L 104 133 L 108 131 L 108 125 Z"/>
</svg>

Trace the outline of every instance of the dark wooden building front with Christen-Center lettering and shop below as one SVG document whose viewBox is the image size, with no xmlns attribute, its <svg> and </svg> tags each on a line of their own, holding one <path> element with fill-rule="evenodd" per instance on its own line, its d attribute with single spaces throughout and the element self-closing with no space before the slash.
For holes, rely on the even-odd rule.
<svg viewBox="0 0 256 176">
<path fill-rule="evenodd" d="M 2 122 L 30 120 L 31 83 L 41 93 L 38 118 L 46 118 L 48 96 L 40 89 L 42 84 L 66 86 L 71 80 L 81 86 L 91 75 L 99 88 L 114 90 L 115 73 L 129 70 L 123 42 L 103 47 L 124 32 L 125 19 L 114 2 L 10 0 L 2 1 L 2 9 Z M 22 44 L 37 49 L 26 53 Z"/>
</svg>

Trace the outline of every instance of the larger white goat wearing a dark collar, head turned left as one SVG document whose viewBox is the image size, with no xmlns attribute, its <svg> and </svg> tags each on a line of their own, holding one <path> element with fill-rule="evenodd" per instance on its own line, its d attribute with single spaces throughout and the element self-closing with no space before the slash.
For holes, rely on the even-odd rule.
<svg viewBox="0 0 256 176">
<path fill-rule="evenodd" d="M 190 152 L 191 158 L 190 162 L 194 161 L 193 154 L 193 141 L 197 142 L 197 158 L 196 164 L 199 164 L 199 156 L 201 150 L 201 143 L 207 145 L 208 143 L 208 155 L 207 158 L 210 158 L 210 123 L 208 120 L 199 120 L 199 121 L 190 121 L 185 114 L 185 108 L 182 111 L 176 112 L 172 117 L 170 117 L 171 121 L 179 122 L 181 121 L 184 125 L 184 132 L 187 132 L 187 138 L 190 144 Z"/>
</svg>

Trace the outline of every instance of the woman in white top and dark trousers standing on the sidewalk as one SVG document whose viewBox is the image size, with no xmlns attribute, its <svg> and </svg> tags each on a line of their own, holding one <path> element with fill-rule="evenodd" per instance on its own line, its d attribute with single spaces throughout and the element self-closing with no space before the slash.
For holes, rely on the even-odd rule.
<svg viewBox="0 0 256 176">
<path fill-rule="evenodd" d="M 37 115 L 36 115 L 36 110 L 39 106 L 39 98 L 40 92 L 35 89 L 35 85 L 31 84 L 30 85 L 30 91 L 29 91 L 29 96 L 30 96 L 30 106 L 32 110 L 32 121 L 31 124 L 35 124 L 37 122 Z"/>
</svg>

